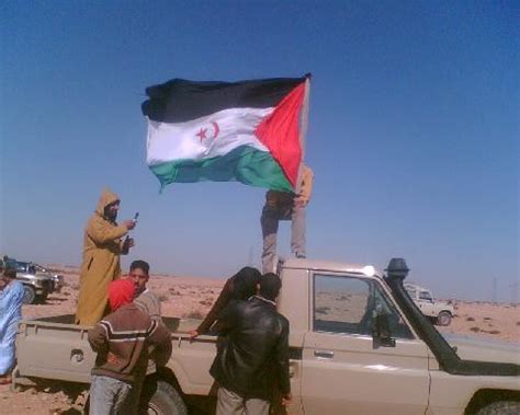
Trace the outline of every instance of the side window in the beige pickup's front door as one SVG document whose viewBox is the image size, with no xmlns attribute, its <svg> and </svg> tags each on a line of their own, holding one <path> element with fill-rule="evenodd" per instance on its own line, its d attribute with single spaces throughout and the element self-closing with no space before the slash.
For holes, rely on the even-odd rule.
<svg viewBox="0 0 520 415">
<path fill-rule="evenodd" d="M 373 280 L 350 276 L 314 276 L 314 331 L 372 335 L 375 312 L 388 314 L 392 335 L 414 338 L 385 292 Z"/>
</svg>

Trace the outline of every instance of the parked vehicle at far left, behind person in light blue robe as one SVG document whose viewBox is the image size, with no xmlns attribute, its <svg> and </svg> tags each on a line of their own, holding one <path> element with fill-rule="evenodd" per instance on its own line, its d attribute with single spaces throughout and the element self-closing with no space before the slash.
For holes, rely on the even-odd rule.
<svg viewBox="0 0 520 415">
<path fill-rule="evenodd" d="M 64 286 L 61 275 L 50 274 L 38 264 L 14 258 L 7 258 L 4 262 L 16 269 L 16 279 L 24 288 L 24 304 L 45 302 L 49 293 L 61 290 Z"/>
</svg>

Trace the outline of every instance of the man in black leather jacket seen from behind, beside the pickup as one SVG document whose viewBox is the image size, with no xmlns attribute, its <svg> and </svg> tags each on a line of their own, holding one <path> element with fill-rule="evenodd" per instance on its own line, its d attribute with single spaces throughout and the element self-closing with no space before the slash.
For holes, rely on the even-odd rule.
<svg viewBox="0 0 520 415">
<path fill-rule="evenodd" d="M 268 415 L 273 395 L 291 401 L 289 321 L 276 312 L 282 283 L 272 274 L 260 279 L 259 295 L 231 301 L 219 315 L 219 348 L 210 373 L 219 385 L 217 415 Z"/>
</svg>

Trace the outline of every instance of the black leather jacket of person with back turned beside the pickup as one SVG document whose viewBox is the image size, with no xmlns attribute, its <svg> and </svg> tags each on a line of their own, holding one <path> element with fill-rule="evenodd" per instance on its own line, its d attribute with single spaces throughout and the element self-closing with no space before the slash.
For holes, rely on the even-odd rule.
<svg viewBox="0 0 520 415">
<path fill-rule="evenodd" d="M 289 382 L 289 321 L 274 304 L 252 297 L 231 301 L 219 315 L 227 342 L 219 347 L 210 373 L 217 383 L 246 399 L 271 401 Z"/>
</svg>

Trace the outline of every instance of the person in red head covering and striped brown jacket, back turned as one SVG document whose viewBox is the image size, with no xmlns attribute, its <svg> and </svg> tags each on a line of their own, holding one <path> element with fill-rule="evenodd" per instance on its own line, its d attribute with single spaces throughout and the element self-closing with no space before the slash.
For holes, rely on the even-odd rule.
<svg viewBox="0 0 520 415">
<path fill-rule="evenodd" d="M 98 353 L 90 385 L 90 412 L 95 415 L 136 414 L 148 358 L 165 366 L 171 356 L 170 332 L 132 302 L 134 290 L 129 279 L 111 283 L 113 312 L 89 331 Z"/>
</svg>

